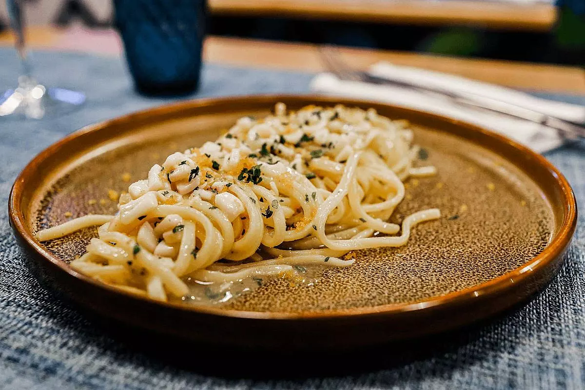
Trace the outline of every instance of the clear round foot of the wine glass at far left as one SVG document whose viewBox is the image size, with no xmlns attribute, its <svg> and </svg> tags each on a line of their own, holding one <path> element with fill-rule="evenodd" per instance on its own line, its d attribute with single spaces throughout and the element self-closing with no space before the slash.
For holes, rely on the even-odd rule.
<svg viewBox="0 0 585 390">
<path fill-rule="evenodd" d="M 64 88 L 46 88 L 33 83 L 20 83 L 0 96 L 0 118 L 41 119 L 64 115 L 85 102 L 81 92 Z M 0 119 L 1 120 L 1 119 Z"/>
</svg>

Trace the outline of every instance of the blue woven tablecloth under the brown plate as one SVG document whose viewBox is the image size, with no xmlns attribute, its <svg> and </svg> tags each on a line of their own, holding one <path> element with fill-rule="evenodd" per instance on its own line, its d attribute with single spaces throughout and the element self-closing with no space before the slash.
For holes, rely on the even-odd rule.
<svg viewBox="0 0 585 390">
<path fill-rule="evenodd" d="M 39 122 L 0 119 L 0 388 L 2 389 L 580 389 L 585 387 L 585 218 L 565 265 L 552 284 L 524 308 L 481 327 L 469 341 L 408 363 L 294 381 L 209 377 L 161 363 L 113 340 L 74 308 L 57 301 L 23 265 L 8 226 L 6 202 L 16 175 L 36 153 L 81 126 L 169 102 L 133 92 L 123 61 L 82 54 L 36 53 L 47 85 L 88 95 L 80 111 Z M 0 90 L 12 87 L 18 62 L 0 50 Z M 306 92 L 311 75 L 205 66 L 197 95 Z M 585 96 L 553 96 L 580 102 Z M 585 149 L 546 155 L 567 176 L 585 210 Z M 401 351 L 388 350 L 388 354 Z M 238 358 L 226 364 L 238 364 Z M 342 364 L 343 362 L 340 362 Z M 291 370 L 294 370 L 291 367 Z"/>
</svg>

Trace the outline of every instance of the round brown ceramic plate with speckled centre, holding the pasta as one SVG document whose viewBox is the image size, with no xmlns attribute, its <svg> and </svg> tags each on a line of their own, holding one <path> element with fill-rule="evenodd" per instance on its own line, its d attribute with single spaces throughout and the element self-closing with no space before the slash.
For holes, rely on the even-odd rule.
<svg viewBox="0 0 585 390">
<path fill-rule="evenodd" d="M 442 218 L 397 249 L 357 253 L 312 287 L 269 282 L 222 308 L 159 303 L 78 274 L 68 261 L 95 229 L 40 244 L 33 232 L 68 216 L 113 213 L 122 191 L 167 154 L 215 139 L 274 103 L 374 107 L 407 119 L 438 175 L 407 182 L 393 217 L 428 207 Z M 425 157 L 425 156 L 423 156 Z M 421 163 L 422 164 L 422 163 Z M 576 224 L 572 189 L 545 158 L 466 123 L 380 103 L 318 96 L 252 96 L 177 103 L 85 127 L 44 150 L 9 201 L 27 264 L 45 285 L 100 316 L 191 341 L 235 346 L 365 346 L 454 329 L 525 301 L 562 264 Z"/>
</svg>

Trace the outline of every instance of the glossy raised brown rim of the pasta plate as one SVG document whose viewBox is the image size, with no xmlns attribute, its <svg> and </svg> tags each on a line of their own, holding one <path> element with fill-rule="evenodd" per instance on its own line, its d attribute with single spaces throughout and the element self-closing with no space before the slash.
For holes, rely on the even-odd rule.
<svg viewBox="0 0 585 390">
<path fill-rule="evenodd" d="M 547 244 L 545 249 L 533 257 L 531 260 L 522 264 L 520 267 L 507 272 L 500 277 L 490 279 L 489 281 L 481 284 L 474 285 L 473 287 L 465 288 L 459 291 L 450 292 L 449 294 L 432 296 L 430 298 L 421 299 L 419 301 L 409 303 L 388 303 L 386 305 L 370 306 L 353 309 L 336 309 L 336 310 L 322 310 L 322 311 L 311 311 L 311 312 L 253 312 L 246 310 L 233 310 L 233 309 L 221 309 L 212 308 L 205 306 L 185 305 L 184 303 L 175 302 L 160 302 L 153 299 L 149 299 L 144 296 L 132 294 L 131 292 L 122 291 L 111 285 L 99 282 L 93 278 L 90 278 L 80 272 L 75 271 L 70 267 L 68 263 L 61 260 L 59 257 L 51 254 L 45 250 L 39 241 L 35 239 L 33 233 L 26 228 L 25 216 L 23 213 L 22 205 L 22 194 L 25 190 L 25 178 L 29 176 L 29 172 L 35 170 L 44 159 L 51 156 L 55 150 L 59 149 L 63 144 L 67 144 L 71 140 L 77 139 L 78 137 L 88 134 L 99 132 L 100 130 L 122 123 L 131 123 L 134 119 L 140 118 L 142 120 L 147 118 L 157 118 L 163 114 L 169 114 L 173 112 L 180 112 L 183 109 L 188 108 L 203 108 L 205 106 L 216 106 L 221 103 L 230 102 L 253 102 L 256 104 L 266 103 L 266 105 L 274 104 L 277 101 L 314 101 L 315 103 L 343 103 L 345 105 L 383 105 L 390 108 L 397 108 L 403 112 L 410 112 L 418 116 L 425 116 L 427 119 L 438 120 L 441 122 L 450 122 L 453 125 L 464 127 L 467 132 L 479 132 L 484 136 L 495 138 L 500 143 L 508 144 L 518 153 L 528 155 L 533 158 L 536 163 L 542 165 L 546 171 L 548 171 L 556 181 L 556 184 L 561 189 L 563 195 L 563 211 L 564 217 L 560 222 L 559 230 L 552 237 L 552 240 Z M 516 164 L 515 164 L 516 165 Z M 26 205 L 25 205 L 26 207 Z M 114 294 L 121 294 L 128 299 L 136 299 L 142 303 L 148 305 L 162 306 L 163 308 L 171 310 L 180 310 L 181 312 L 192 312 L 207 315 L 215 315 L 221 317 L 236 317 L 242 319 L 261 319 L 261 320 L 327 320 L 327 319 L 340 319 L 340 318 L 354 318 L 363 317 L 370 315 L 384 314 L 387 316 L 396 315 L 404 312 L 415 312 L 419 310 L 428 310 L 442 306 L 444 308 L 454 307 L 460 303 L 469 303 L 470 299 L 478 298 L 481 296 L 484 298 L 486 295 L 495 295 L 500 292 L 505 292 L 514 284 L 522 282 L 527 279 L 533 272 L 539 271 L 545 268 L 546 265 L 552 263 L 556 258 L 563 255 L 563 252 L 569 246 L 572 240 L 574 231 L 577 225 L 577 203 L 574 196 L 573 189 L 570 187 L 569 182 L 565 176 L 550 163 L 541 154 L 532 151 L 528 147 L 518 143 L 515 140 L 510 139 L 502 134 L 493 132 L 485 129 L 484 127 L 473 125 L 472 123 L 463 122 L 447 116 L 436 115 L 435 113 L 429 113 L 419 111 L 417 109 L 405 108 L 398 105 L 391 105 L 379 101 L 371 101 L 367 99 L 351 99 L 343 98 L 342 96 L 323 96 L 316 94 L 254 94 L 254 95 L 229 95 L 220 96 L 214 98 L 199 98 L 190 99 L 186 101 L 179 101 L 168 103 L 164 105 L 154 106 L 153 108 L 147 108 L 140 111 L 128 113 L 126 115 L 117 116 L 113 119 L 103 120 L 98 123 L 93 123 L 81 129 L 75 130 L 67 136 L 57 140 L 40 153 L 36 154 L 29 163 L 23 168 L 16 177 L 15 182 L 12 185 L 9 198 L 8 198 L 8 217 L 9 223 L 12 227 L 13 233 L 20 238 L 21 243 L 25 243 L 30 250 L 36 252 L 36 254 L 43 258 L 45 261 L 49 261 L 54 266 L 59 268 L 60 271 L 66 272 L 70 277 L 80 279 L 82 282 L 91 284 L 93 287 L 99 289 L 107 289 Z M 563 260 L 561 260 L 562 262 Z"/>
</svg>

